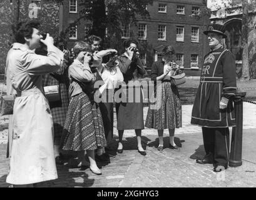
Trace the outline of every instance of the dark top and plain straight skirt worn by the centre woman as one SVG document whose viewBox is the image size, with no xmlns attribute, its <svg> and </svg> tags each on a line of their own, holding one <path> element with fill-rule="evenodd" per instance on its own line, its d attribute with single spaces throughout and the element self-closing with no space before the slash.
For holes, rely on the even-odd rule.
<svg viewBox="0 0 256 200">
<path fill-rule="evenodd" d="M 119 56 L 118 62 L 126 85 L 116 91 L 116 96 L 119 94 L 120 98 L 116 102 L 117 129 L 144 129 L 143 91 L 138 78 L 146 73 L 145 68 L 140 58 L 131 61 L 126 54 Z"/>
</svg>

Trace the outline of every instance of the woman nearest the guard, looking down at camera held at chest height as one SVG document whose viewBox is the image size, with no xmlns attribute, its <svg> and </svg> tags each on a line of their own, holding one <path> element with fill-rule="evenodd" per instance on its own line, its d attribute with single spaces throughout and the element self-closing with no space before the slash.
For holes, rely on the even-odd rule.
<svg viewBox="0 0 256 200">
<path fill-rule="evenodd" d="M 177 86 L 171 83 L 175 73 L 175 50 L 172 46 L 165 46 L 163 59 L 153 63 L 151 68 L 151 80 L 161 81 L 156 85 L 156 104 L 150 104 L 145 126 L 157 129 L 159 137 L 158 151 L 163 151 L 163 129 L 168 129 L 170 134 L 170 148 L 180 151 L 174 142 L 175 128 L 182 127 L 182 104 Z"/>
</svg>

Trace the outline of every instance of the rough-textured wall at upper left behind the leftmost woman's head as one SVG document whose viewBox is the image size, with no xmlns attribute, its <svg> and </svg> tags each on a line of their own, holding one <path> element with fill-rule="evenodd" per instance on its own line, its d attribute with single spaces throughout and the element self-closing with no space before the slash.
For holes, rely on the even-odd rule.
<svg viewBox="0 0 256 200">
<path fill-rule="evenodd" d="M 56 1 L 45 0 L 20 0 L 17 1 L 2 0 L 0 1 L 0 74 L 4 74 L 6 66 L 6 56 L 12 44 L 11 24 L 29 19 L 38 19 L 41 22 L 41 30 L 49 32 L 51 36 L 59 35 L 59 4 Z M 18 8 L 19 7 L 19 8 Z M 19 17 L 18 11 L 19 10 Z"/>
</svg>

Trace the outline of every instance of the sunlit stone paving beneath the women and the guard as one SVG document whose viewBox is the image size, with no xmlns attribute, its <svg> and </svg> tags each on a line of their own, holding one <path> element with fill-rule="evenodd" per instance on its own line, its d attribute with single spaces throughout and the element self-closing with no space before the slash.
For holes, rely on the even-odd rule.
<svg viewBox="0 0 256 200">
<path fill-rule="evenodd" d="M 165 134 L 165 150 L 159 153 L 156 130 L 143 130 L 146 156 L 136 148 L 134 131 L 125 131 L 123 154 L 115 158 L 97 159 L 103 173 L 96 176 L 89 168 L 69 168 L 66 164 L 76 161 L 66 157 L 64 166 L 58 166 L 59 178 L 39 183 L 36 187 L 256 187 L 256 106 L 243 104 L 243 165 L 228 168 L 225 173 L 214 173 L 212 165 L 200 165 L 195 159 L 204 155 L 201 128 L 190 124 L 192 105 L 183 105 L 183 128 L 177 129 L 175 140 L 182 151 L 168 149 L 168 134 Z M 144 109 L 146 118 L 148 108 Z M 115 116 L 116 117 L 116 116 Z M 116 121 L 116 118 L 115 118 Z M 116 122 L 115 128 L 116 128 Z M 8 133 L 8 116 L 0 118 L 0 187 L 8 187 L 9 159 L 5 158 Z M 117 131 L 110 144 L 117 148 Z"/>
</svg>

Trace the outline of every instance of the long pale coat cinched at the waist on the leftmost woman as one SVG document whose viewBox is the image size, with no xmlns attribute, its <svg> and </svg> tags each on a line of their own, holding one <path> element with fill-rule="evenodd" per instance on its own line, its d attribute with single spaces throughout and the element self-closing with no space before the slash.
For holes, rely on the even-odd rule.
<svg viewBox="0 0 256 200">
<path fill-rule="evenodd" d="M 42 75 L 57 71 L 63 53 L 48 47 L 48 56 L 14 43 L 7 58 L 7 88 L 17 96 L 13 108 L 13 145 L 6 182 L 33 184 L 57 179 L 53 148 L 53 118 L 44 97 Z"/>
</svg>

